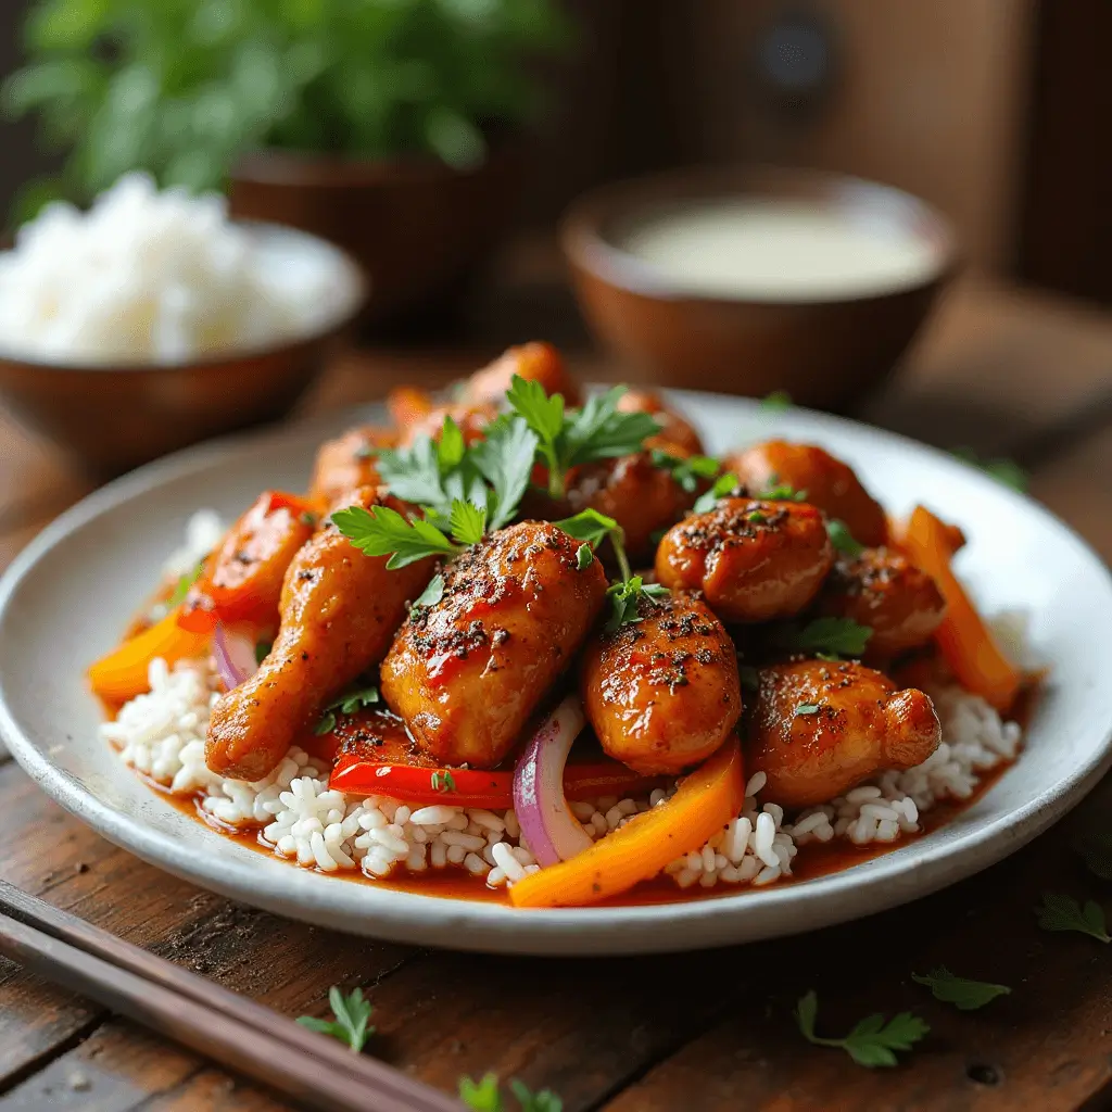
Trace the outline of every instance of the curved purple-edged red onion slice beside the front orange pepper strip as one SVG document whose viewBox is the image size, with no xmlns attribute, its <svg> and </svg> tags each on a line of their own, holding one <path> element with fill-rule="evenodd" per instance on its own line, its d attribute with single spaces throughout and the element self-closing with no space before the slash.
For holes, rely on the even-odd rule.
<svg viewBox="0 0 1112 1112">
<path fill-rule="evenodd" d="M 529 739 L 514 770 L 514 811 L 529 851 L 545 867 L 592 845 L 564 798 L 564 765 L 585 721 L 583 704 L 568 695 Z"/>
</svg>

